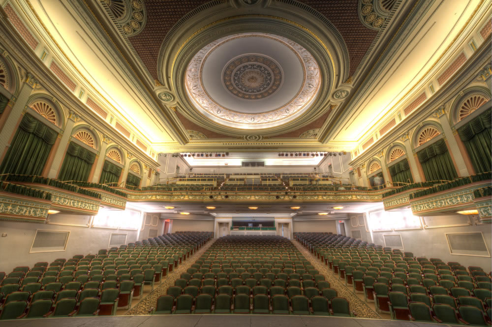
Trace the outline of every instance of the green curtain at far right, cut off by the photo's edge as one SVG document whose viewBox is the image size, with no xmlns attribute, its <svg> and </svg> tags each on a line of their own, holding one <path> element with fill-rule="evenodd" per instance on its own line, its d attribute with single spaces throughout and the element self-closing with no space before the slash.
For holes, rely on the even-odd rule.
<svg viewBox="0 0 492 327">
<path fill-rule="evenodd" d="M 492 110 L 489 109 L 458 128 L 458 135 L 470 156 L 476 174 L 491 171 L 491 127 Z"/>
</svg>

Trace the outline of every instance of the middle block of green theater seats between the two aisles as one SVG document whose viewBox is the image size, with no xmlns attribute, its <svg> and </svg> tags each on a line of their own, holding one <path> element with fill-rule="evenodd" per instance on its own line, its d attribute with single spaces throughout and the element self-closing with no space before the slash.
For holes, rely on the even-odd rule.
<svg viewBox="0 0 492 327">
<path fill-rule="evenodd" d="M 294 244 L 274 236 L 219 238 L 166 293 L 151 313 L 354 316 Z"/>
</svg>

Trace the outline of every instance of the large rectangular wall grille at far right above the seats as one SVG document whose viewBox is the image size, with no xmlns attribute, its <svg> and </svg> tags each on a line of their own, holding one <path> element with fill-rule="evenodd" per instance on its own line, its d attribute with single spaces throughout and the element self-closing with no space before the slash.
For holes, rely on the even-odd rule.
<svg viewBox="0 0 492 327">
<path fill-rule="evenodd" d="M 451 254 L 490 257 L 482 233 L 447 233 L 446 238 Z"/>
</svg>

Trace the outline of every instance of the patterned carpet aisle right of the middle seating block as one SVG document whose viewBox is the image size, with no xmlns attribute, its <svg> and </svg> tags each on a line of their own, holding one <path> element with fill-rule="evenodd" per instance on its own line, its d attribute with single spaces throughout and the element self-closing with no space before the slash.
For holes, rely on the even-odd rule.
<svg viewBox="0 0 492 327">
<path fill-rule="evenodd" d="M 331 288 L 337 290 L 339 297 L 345 297 L 350 302 L 350 309 L 357 314 L 357 318 L 371 318 L 371 319 L 381 319 L 374 310 L 372 310 L 369 305 L 361 300 L 354 292 L 352 292 L 348 287 L 346 287 L 338 276 L 328 269 L 321 261 L 316 258 L 310 251 L 308 251 L 301 243 L 295 239 L 291 239 L 292 244 L 294 244 L 299 251 L 306 257 L 311 264 L 323 274 L 328 282 L 330 282 Z"/>
</svg>

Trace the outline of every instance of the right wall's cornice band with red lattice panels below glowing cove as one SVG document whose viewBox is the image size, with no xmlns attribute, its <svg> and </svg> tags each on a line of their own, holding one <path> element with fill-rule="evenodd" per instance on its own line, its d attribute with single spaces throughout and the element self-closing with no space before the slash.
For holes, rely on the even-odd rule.
<svg viewBox="0 0 492 327">
<path fill-rule="evenodd" d="M 432 95 L 432 97 L 420 108 L 420 110 L 411 113 L 408 119 L 400 122 L 396 128 L 382 136 L 368 150 L 364 151 L 349 164 L 357 167 L 361 163 L 374 157 L 379 150 L 386 149 L 388 146 L 391 146 L 392 143 L 395 143 L 400 139 L 404 140 L 405 138 L 411 140 L 409 131 L 412 131 L 424 120 L 432 117 L 436 109 L 438 110 L 441 106 L 445 107 L 445 104 L 452 101 L 453 98 L 459 94 L 461 89 L 466 88 L 467 85 L 476 80 L 476 77 L 480 74 L 483 67 L 487 65 L 487 63 L 491 62 L 492 55 L 490 52 L 490 46 L 491 36 L 484 41 L 472 57 L 465 61 L 465 63 L 450 78 L 450 80 Z M 407 153 L 407 155 L 411 155 L 411 153 Z"/>
</svg>

